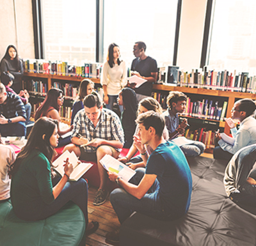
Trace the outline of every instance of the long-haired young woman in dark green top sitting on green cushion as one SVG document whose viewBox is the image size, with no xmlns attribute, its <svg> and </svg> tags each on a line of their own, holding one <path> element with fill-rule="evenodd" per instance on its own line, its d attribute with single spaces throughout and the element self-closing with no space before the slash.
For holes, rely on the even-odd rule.
<svg viewBox="0 0 256 246">
<path fill-rule="evenodd" d="M 65 174 L 53 187 L 52 157 L 58 146 L 58 121 L 42 117 L 31 130 L 28 142 L 10 166 L 13 211 L 22 220 L 42 220 L 56 213 L 68 201 L 81 208 L 86 221 L 86 234 L 96 231 L 97 222 L 88 223 L 87 183 L 83 178 L 68 182 L 73 165 L 66 161 Z"/>
</svg>

